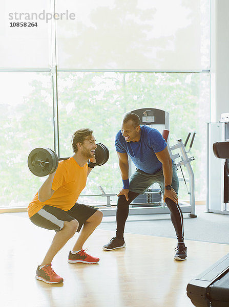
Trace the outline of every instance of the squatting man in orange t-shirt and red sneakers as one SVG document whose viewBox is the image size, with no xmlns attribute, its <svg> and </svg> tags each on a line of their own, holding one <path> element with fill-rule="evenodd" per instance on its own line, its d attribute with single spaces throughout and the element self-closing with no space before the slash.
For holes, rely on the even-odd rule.
<svg viewBox="0 0 229 307">
<path fill-rule="evenodd" d="M 51 267 L 57 252 L 68 240 L 81 231 L 69 252 L 68 262 L 96 264 L 99 258 L 92 257 L 82 246 L 101 223 L 102 212 L 94 207 L 76 203 L 85 188 L 87 177 L 95 166 L 95 138 L 91 129 L 77 130 L 72 136 L 73 156 L 59 161 L 56 171 L 49 175 L 28 206 L 28 214 L 35 225 L 55 230 L 56 234 L 45 258 L 37 267 L 35 278 L 47 283 L 59 283 L 64 279 Z M 87 161 L 90 160 L 89 163 Z"/>
</svg>

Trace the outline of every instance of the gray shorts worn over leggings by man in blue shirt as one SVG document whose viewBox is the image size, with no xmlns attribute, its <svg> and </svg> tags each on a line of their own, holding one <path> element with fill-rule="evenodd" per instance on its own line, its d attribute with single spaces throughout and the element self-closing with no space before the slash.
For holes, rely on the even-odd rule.
<svg viewBox="0 0 229 307">
<path fill-rule="evenodd" d="M 179 179 L 177 176 L 177 166 L 175 162 L 173 162 L 172 168 L 173 168 L 172 188 L 176 191 L 176 193 L 178 193 Z M 159 184 L 161 192 L 164 194 L 164 175 L 162 169 L 154 174 L 148 174 L 140 169 L 137 169 L 130 177 L 129 191 L 138 194 L 143 194 L 154 183 Z"/>
</svg>

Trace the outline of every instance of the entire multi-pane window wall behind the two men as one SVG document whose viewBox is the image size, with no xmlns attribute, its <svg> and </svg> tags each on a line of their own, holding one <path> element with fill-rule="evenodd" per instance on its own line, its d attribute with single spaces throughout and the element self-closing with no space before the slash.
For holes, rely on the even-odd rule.
<svg viewBox="0 0 229 307">
<path fill-rule="evenodd" d="M 60 156 L 71 156 L 71 136 L 80 127 L 91 127 L 97 142 L 110 150 L 108 163 L 90 174 L 87 193 L 99 193 L 98 184 L 117 192 L 114 137 L 123 113 L 144 106 L 169 112 L 171 145 L 195 130 L 195 196 L 205 199 L 209 0 L 13 0 L 3 7 L 0 206 L 27 206 L 44 180 L 30 173 L 29 152 L 54 148 L 55 141 Z M 44 11 L 65 17 L 55 23 L 40 15 L 38 27 L 9 27 L 10 13 Z M 183 183 L 179 196 L 189 199 Z"/>
</svg>

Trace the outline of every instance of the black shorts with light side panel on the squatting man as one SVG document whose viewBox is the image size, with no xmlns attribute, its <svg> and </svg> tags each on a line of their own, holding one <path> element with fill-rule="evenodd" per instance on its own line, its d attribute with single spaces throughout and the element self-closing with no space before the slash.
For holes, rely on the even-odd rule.
<svg viewBox="0 0 229 307">
<path fill-rule="evenodd" d="M 58 232 L 64 227 L 64 222 L 77 220 L 79 222 L 77 232 L 79 232 L 82 225 L 84 225 L 88 218 L 97 210 L 98 209 L 94 207 L 78 203 L 76 203 L 72 209 L 68 211 L 46 205 L 31 216 L 30 221 L 36 226 Z"/>
</svg>

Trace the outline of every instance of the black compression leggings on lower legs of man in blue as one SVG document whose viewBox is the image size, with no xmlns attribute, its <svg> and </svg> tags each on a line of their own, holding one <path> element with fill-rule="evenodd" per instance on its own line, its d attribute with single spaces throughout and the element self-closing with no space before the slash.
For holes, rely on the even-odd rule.
<svg viewBox="0 0 229 307">
<path fill-rule="evenodd" d="M 117 210 L 116 210 L 116 237 L 118 239 L 123 239 L 124 227 L 129 214 L 130 203 L 138 196 L 138 193 L 129 192 L 129 201 L 126 200 L 124 195 L 118 196 Z M 165 199 L 165 203 L 170 209 L 170 216 L 173 226 L 176 231 L 178 243 L 184 242 L 184 232 L 183 232 L 183 214 L 180 206 L 169 198 Z"/>
</svg>

